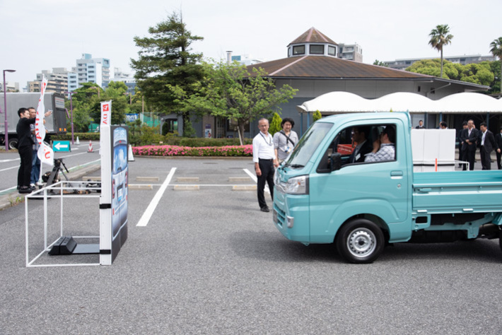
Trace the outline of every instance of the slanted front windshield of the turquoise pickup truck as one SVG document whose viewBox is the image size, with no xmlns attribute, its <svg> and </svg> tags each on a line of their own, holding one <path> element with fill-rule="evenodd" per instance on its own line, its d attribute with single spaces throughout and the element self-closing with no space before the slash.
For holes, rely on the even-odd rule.
<svg viewBox="0 0 502 335">
<path fill-rule="evenodd" d="M 331 127 L 333 127 L 331 123 L 315 122 L 298 141 L 298 146 L 286 160 L 286 165 L 291 167 L 305 166 Z"/>
</svg>

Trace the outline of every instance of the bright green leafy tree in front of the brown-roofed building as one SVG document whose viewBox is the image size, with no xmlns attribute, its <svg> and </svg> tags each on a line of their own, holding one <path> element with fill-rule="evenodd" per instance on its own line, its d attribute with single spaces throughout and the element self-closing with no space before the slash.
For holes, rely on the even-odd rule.
<svg viewBox="0 0 502 335">
<path fill-rule="evenodd" d="M 204 71 L 204 80 L 192 86 L 196 93 L 189 94 L 180 86 L 170 86 L 170 89 L 178 96 L 183 110 L 234 119 L 241 145 L 247 122 L 271 114 L 274 107 L 279 109 L 279 104 L 293 98 L 298 91 L 288 85 L 276 89 L 264 69 L 253 68 L 250 73 L 246 66 L 237 62 L 206 63 Z"/>
</svg>

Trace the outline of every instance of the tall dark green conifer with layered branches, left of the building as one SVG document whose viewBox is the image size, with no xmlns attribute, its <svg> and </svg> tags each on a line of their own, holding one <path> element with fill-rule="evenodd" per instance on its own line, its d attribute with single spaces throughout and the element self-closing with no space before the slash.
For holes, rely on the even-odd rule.
<svg viewBox="0 0 502 335">
<path fill-rule="evenodd" d="M 181 13 L 174 12 L 167 20 L 148 28 L 151 37 L 134 37 L 141 50 L 138 59 L 131 59 L 135 78 L 144 98 L 165 113 L 180 114 L 177 97 L 170 86 L 179 86 L 188 94 L 191 87 L 202 79 L 202 54 L 190 53 L 192 42 L 203 37 L 192 35 L 182 20 Z M 189 121 L 189 111 L 182 112 L 184 127 Z"/>
</svg>

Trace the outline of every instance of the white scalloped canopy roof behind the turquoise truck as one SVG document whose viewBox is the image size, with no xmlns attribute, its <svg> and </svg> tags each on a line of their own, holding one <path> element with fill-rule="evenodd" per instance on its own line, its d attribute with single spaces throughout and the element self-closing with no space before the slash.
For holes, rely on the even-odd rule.
<svg viewBox="0 0 502 335">
<path fill-rule="evenodd" d="M 339 114 L 349 112 L 410 113 L 502 113 L 502 100 L 481 93 L 456 93 L 440 100 L 424 95 L 397 92 L 377 99 L 366 99 L 349 92 L 330 92 L 303 102 L 296 107 L 300 113 Z"/>
</svg>

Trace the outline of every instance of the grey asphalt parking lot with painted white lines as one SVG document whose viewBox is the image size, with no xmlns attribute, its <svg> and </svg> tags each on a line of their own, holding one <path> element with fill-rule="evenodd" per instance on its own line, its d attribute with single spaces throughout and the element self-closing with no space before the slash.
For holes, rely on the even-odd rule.
<svg viewBox="0 0 502 335">
<path fill-rule="evenodd" d="M 26 268 L 24 206 L 0 211 L 0 334 L 500 334 L 498 240 L 399 244 L 346 264 L 331 245 L 286 240 L 245 169 L 250 158 L 130 162 L 129 237 L 111 266 Z M 69 229 L 98 231 L 94 206 L 65 202 Z"/>
</svg>

